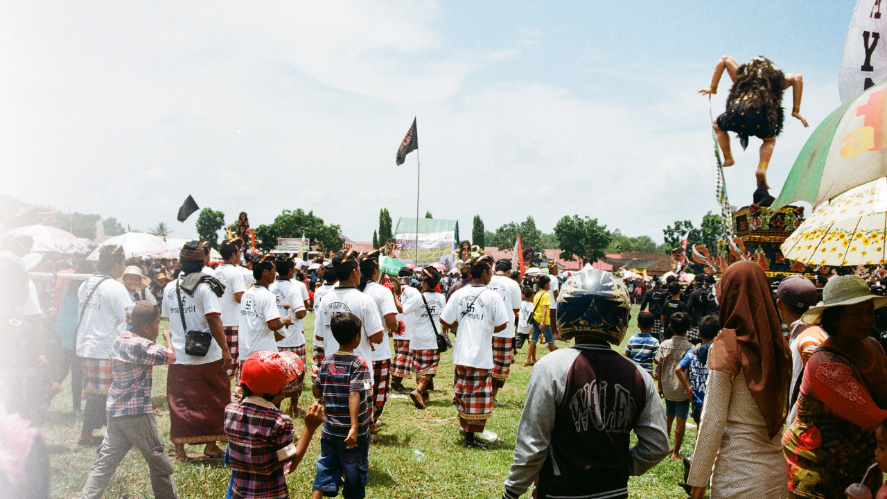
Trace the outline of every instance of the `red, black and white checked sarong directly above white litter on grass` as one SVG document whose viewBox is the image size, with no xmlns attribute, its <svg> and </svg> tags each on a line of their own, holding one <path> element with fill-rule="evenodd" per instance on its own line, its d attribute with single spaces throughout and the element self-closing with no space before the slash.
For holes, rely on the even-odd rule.
<svg viewBox="0 0 887 499">
<path fill-rule="evenodd" d="M 483 432 L 492 416 L 492 369 L 453 366 L 452 403 L 459 410 L 459 425 L 466 432 Z"/>
</svg>

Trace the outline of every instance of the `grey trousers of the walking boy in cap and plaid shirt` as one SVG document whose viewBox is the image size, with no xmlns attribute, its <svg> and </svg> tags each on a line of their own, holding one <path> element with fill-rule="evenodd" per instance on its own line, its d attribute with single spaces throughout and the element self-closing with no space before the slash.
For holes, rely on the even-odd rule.
<svg viewBox="0 0 887 499">
<path fill-rule="evenodd" d="M 90 478 L 83 486 L 82 499 L 100 499 L 105 494 L 114 471 L 133 446 L 148 463 L 154 497 L 178 499 L 176 484 L 172 481 L 175 468 L 163 452 L 165 446 L 157 433 L 153 414 L 108 418 L 105 440 L 98 449 L 98 461 L 92 465 Z"/>
</svg>

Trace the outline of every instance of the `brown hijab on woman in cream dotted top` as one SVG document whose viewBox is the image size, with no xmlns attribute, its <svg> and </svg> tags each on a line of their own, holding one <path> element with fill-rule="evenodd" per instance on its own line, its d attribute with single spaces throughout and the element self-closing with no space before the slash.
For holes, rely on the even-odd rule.
<svg viewBox="0 0 887 499">
<path fill-rule="evenodd" d="M 791 357 L 764 269 L 748 261 L 727 267 L 718 283 L 718 301 L 723 329 L 711 343 L 709 368 L 731 376 L 745 373 L 773 439 L 785 422 Z"/>
</svg>

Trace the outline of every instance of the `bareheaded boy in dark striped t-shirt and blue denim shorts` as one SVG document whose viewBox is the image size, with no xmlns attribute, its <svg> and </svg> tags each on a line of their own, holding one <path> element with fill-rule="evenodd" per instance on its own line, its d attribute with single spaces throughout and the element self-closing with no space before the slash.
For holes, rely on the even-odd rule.
<svg viewBox="0 0 887 499">
<path fill-rule="evenodd" d="M 362 327 L 353 313 L 336 313 L 330 318 L 330 332 L 339 351 L 326 357 L 314 381 L 314 399 L 323 399 L 326 416 L 311 499 L 338 495 L 340 484 L 345 499 L 365 497 L 373 378 L 366 360 L 354 354 Z"/>
</svg>

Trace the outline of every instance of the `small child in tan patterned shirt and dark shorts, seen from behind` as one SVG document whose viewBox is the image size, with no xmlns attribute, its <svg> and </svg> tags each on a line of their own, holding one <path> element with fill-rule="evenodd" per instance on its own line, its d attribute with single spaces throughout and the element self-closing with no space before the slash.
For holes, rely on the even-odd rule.
<svg viewBox="0 0 887 499">
<path fill-rule="evenodd" d="M 665 426 L 671 435 L 671 424 L 675 418 L 678 423 L 674 428 L 674 448 L 671 450 L 671 459 L 680 459 L 680 444 L 684 443 L 684 431 L 687 426 L 687 415 L 690 412 L 690 400 L 687 391 L 680 384 L 678 376 L 674 374 L 674 368 L 678 365 L 687 351 L 693 348 L 693 344 L 687 340 L 687 331 L 690 330 L 690 316 L 686 312 L 671 314 L 667 327 L 671 329 L 672 337 L 659 345 L 655 361 L 660 366 L 659 395 L 665 399 Z"/>
</svg>

